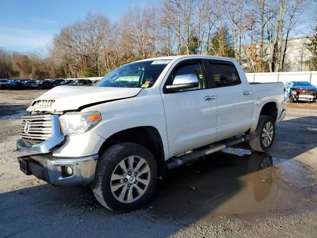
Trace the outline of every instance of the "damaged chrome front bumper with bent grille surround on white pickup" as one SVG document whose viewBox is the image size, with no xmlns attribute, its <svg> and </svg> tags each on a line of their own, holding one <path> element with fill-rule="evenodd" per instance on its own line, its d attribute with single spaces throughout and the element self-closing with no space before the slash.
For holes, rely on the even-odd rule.
<svg viewBox="0 0 317 238">
<path fill-rule="evenodd" d="M 16 142 L 13 156 L 26 175 L 34 175 L 54 185 L 86 185 L 93 182 L 98 155 L 76 158 L 52 156 L 53 148 L 61 145 L 64 135 L 60 133 L 58 115 L 52 115 L 52 137 L 42 143 L 27 145 L 23 139 Z M 67 168 L 71 173 L 67 173 Z"/>
</svg>

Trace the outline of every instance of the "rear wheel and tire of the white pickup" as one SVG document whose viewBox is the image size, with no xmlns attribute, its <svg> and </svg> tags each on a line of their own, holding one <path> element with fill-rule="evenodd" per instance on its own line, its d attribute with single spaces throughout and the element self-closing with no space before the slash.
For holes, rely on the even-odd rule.
<svg viewBox="0 0 317 238">
<path fill-rule="evenodd" d="M 250 132 L 250 147 L 259 152 L 269 150 L 275 138 L 275 121 L 270 116 L 260 115 L 257 129 Z"/>
</svg>

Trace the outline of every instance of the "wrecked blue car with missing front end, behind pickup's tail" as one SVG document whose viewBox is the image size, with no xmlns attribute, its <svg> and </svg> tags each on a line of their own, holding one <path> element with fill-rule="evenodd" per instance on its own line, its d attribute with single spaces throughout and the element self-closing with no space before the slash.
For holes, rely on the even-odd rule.
<svg viewBox="0 0 317 238">
<path fill-rule="evenodd" d="M 284 84 L 285 102 L 317 102 L 317 87 L 307 81 L 289 81 Z"/>
</svg>

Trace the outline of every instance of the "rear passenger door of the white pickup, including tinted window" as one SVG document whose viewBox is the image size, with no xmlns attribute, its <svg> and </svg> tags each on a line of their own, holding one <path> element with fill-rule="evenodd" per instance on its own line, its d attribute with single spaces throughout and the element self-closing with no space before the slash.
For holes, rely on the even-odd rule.
<svg viewBox="0 0 317 238">
<path fill-rule="evenodd" d="M 217 96 L 217 140 L 246 132 L 252 124 L 253 96 L 231 61 L 209 60 Z"/>
</svg>

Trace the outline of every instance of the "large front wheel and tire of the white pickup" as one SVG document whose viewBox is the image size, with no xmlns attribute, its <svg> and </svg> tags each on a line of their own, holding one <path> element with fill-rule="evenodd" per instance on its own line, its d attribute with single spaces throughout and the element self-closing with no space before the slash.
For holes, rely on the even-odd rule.
<svg viewBox="0 0 317 238">
<path fill-rule="evenodd" d="M 147 148 L 135 143 L 119 143 L 99 157 L 93 192 L 107 209 L 127 212 L 148 201 L 157 176 L 156 160 Z"/>
</svg>

